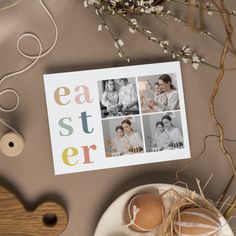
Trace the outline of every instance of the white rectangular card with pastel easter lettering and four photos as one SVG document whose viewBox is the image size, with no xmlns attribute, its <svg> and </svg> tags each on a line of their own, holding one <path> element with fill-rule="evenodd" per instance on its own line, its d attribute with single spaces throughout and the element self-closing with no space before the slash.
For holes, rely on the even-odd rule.
<svg viewBox="0 0 236 236">
<path fill-rule="evenodd" d="M 190 158 L 179 62 L 44 75 L 55 174 Z"/>
</svg>

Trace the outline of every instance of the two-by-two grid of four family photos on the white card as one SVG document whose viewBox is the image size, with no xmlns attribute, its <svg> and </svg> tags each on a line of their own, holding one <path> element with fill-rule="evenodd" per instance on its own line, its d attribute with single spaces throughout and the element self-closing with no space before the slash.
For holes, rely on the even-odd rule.
<svg viewBox="0 0 236 236">
<path fill-rule="evenodd" d="M 98 81 L 106 157 L 184 148 L 176 74 Z"/>
</svg>

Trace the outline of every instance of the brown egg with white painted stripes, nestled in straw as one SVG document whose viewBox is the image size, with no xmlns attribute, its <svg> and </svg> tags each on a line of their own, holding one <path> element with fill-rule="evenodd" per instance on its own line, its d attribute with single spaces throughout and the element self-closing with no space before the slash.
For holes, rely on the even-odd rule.
<svg viewBox="0 0 236 236">
<path fill-rule="evenodd" d="M 219 218 L 204 208 L 185 209 L 176 218 L 174 230 L 178 236 L 217 236 L 221 231 Z"/>
</svg>

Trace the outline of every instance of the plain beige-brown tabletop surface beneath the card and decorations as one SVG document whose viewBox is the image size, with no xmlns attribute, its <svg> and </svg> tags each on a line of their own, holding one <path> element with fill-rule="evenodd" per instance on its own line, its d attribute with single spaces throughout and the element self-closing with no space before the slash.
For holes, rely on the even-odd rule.
<svg viewBox="0 0 236 236">
<path fill-rule="evenodd" d="M 4 4 L 9 1 L 1 1 Z M 101 67 L 127 65 L 120 59 L 113 42 L 106 32 L 98 32 L 99 19 L 92 8 L 83 8 L 82 0 L 47 0 L 46 5 L 54 15 L 59 28 L 59 40 L 49 56 L 43 58 L 30 71 L 16 76 L 4 87 L 16 89 L 20 94 L 20 106 L 12 113 L 0 115 L 14 126 L 26 140 L 23 153 L 16 158 L 0 154 L 0 182 L 9 184 L 26 202 L 35 203 L 40 198 L 60 199 L 69 213 L 69 224 L 63 236 L 92 236 L 96 224 L 109 204 L 128 189 L 152 182 L 174 183 L 174 171 L 185 161 L 174 161 L 127 168 L 54 176 L 50 148 L 49 128 L 43 87 L 43 73 L 74 71 Z M 227 0 L 228 6 L 236 9 L 235 0 Z M 183 6 L 179 6 L 184 11 Z M 185 13 L 183 13 L 185 14 Z M 224 40 L 224 29 L 219 17 L 206 16 L 207 26 Z M 125 42 L 131 64 L 163 62 L 172 60 L 156 45 L 140 35 L 131 35 L 117 20 L 109 20 L 114 31 Z M 234 25 L 236 17 L 234 17 Z M 201 56 L 214 64 L 219 63 L 221 47 L 203 35 L 187 31 L 181 24 L 168 21 L 166 27 L 160 21 L 145 18 L 157 35 L 169 39 L 176 46 L 192 45 Z M 17 38 L 24 32 L 36 33 L 47 49 L 54 37 L 53 26 L 36 0 L 23 0 L 18 6 L 0 12 L 0 74 L 1 76 L 23 68 L 30 61 L 23 59 L 16 50 Z M 27 41 L 27 42 L 26 42 Z M 22 47 L 36 53 L 35 42 L 26 40 Z M 235 37 L 234 37 L 235 41 Z M 228 63 L 236 60 L 229 56 Z M 182 64 L 183 84 L 186 99 L 191 154 L 196 156 L 203 148 L 203 137 L 217 134 L 209 113 L 209 98 L 217 70 L 200 66 L 195 71 Z M 236 139 L 236 72 L 226 72 L 217 97 L 217 116 L 227 138 Z M 3 87 L 2 87 L 3 89 Z M 0 103 L 10 106 L 12 96 L 2 96 Z M 0 127 L 1 135 L 7 131 Z M 227 142 L 234 160 L 236 147 Z M 220 152 L 216 138 L 207 140 L 207 150 L 182 175 L 182 180 L 193 189 L 195 178 L 203 182 L 210 174 L 214 177 L 207 187 L 206 195 L 212 200 L 219 198 L 231 172 Z M 235 194 L 235 183 L 231 193 Z"/>
</svg>

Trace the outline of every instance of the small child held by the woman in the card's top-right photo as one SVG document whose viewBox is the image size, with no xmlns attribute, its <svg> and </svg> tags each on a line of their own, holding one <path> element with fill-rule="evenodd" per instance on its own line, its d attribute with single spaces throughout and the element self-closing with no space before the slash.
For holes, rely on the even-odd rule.
<svg viewBox="0 0 236 236">
<path fill-rule="evenodd" d="M 158 82 L 154 84 L 154 88 L 150 87 L 150 92 L 153 93 L 153 100 L 150 100 L 148 106 L 153 111 L 164 111 L 167 107 L 168 99 L 166 94 L 161 91 Z"/>
</svg>

